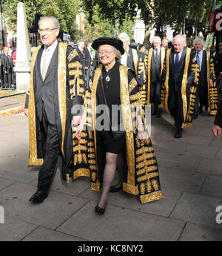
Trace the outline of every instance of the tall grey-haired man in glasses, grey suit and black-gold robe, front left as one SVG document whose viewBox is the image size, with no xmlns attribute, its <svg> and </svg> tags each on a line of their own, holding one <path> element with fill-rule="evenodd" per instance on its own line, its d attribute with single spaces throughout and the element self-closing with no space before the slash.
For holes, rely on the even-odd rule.
<svg viewBox="0 0 222 256">
<path fill-rule="evenodd" d="M 31 203 L 42 203 L 47 197 L 59 155 L 62 178 L 69 181 L 73 161 L 71 109 L 82 103 L 84 95 L 78 53 L 57 41 L 58 20 L 43 17 L 38 27 L 42 45 L 33 52 L 30 88 L 24 108 L 29 119 L 29 166 L 41 165 L 38 190 L 30 198 Z"/>
</svg>

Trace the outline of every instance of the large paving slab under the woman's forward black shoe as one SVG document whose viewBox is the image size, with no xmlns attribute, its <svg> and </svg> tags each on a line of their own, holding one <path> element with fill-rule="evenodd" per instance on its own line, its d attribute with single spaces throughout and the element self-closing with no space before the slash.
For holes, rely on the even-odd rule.
<svg viewBox="0 0 222 256">
<path fill-rule="evenodd" d="M 98 215 L 94 207 L 94 202 L 87 203 L 57 230 L 95 241 L 178 240 L 185 224 L 110 203 L 107 204 L 107 212 Z"/>
</svg>

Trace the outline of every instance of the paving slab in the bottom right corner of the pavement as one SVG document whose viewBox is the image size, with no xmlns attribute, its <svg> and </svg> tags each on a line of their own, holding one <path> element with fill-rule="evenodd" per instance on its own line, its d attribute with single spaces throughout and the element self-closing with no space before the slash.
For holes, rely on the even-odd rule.
<svg viewBox="0 0 222 256">
<path fill-rule="evenodd" d="M 222 232 L 220 229 L 187 223 L 180 241 L 222 241 Z"/>
</svg>

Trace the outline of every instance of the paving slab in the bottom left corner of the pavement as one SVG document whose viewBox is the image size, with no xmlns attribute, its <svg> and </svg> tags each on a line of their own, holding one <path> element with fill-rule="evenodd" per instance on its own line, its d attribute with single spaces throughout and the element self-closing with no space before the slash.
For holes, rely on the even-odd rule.
<svg viewBox="0 0 222 256">
<path fill-rule="evenodd" d="M 0 241 L 19 241 L 36 229 L 36 225 L 24 220 L 4 216 L 4 224 L 0 224 Z"/>
</svg>

